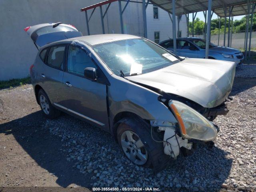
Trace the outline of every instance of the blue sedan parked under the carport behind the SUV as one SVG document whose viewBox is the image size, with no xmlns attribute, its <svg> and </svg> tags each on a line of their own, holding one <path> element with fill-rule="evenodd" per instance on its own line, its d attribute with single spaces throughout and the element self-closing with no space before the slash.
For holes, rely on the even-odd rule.
<svg viewBox="0 0 256 192">
<path fill-rule="evenodd" d="M 168 39 L 159 43 L 167 50 L 173 51 L 173 40 Z M 205 40 L 201 38 L 177 38 L 176 54 L 188 58 L 205 58 Z M 209 44 L 209 58 L 232 61 L 236 66 L 241 66 L 244 56 L 238 49 Z"/>
</svg>

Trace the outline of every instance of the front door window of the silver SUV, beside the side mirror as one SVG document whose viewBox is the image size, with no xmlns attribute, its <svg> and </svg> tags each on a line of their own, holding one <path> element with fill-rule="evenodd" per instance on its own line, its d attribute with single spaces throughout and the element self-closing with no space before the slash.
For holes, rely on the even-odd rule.
<svg viewBox="0 0 256 192">
<path fill-rule="evenodd" d="M 84 50 L 76 46 L 69 46 L 68 48 L 68 61 L 67 70 L 68 72 L 84 76 L 84 69 L 86 67 L 93 67 L 97 69 L 94 62 L 86 54 Z"/>
</svg>

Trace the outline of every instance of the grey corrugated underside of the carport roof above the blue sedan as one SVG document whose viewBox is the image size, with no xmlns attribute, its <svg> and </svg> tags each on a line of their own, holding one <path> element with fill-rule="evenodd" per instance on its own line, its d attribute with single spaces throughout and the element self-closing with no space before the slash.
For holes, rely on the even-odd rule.
<svg viewBox="0 0 256 192">
<path fill-rule="evenodd" d="M 172 0 L 150 0 L 150 2 L 172 13 Z M 256 2 L 256 0 L 252 0 L 252 2 Z M 212 10 L 220 17 L 225 16 L 224 7 L 229 8 L 232 6 L 234 8 L 231 16 L 245 15 L 248 12 L 247 0 L 212 0 Z M 205 11 L 208 9 L 208 0 L 176 0 L 175 8 L 176 15 Z"/>
</svg>

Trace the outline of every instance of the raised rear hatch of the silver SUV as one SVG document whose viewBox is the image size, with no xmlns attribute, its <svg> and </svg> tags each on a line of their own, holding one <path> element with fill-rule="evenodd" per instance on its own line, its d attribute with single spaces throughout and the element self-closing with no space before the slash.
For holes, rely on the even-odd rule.
<svg viewBox="0 0 256 192">
<path fill-rule="evenodd" d="M 46 44 L 82 36 L 74 26 L 58 23 L 44 23 L 24 28 L 33 40 L 36 48 L 40 48 Z"/>
</svg>

